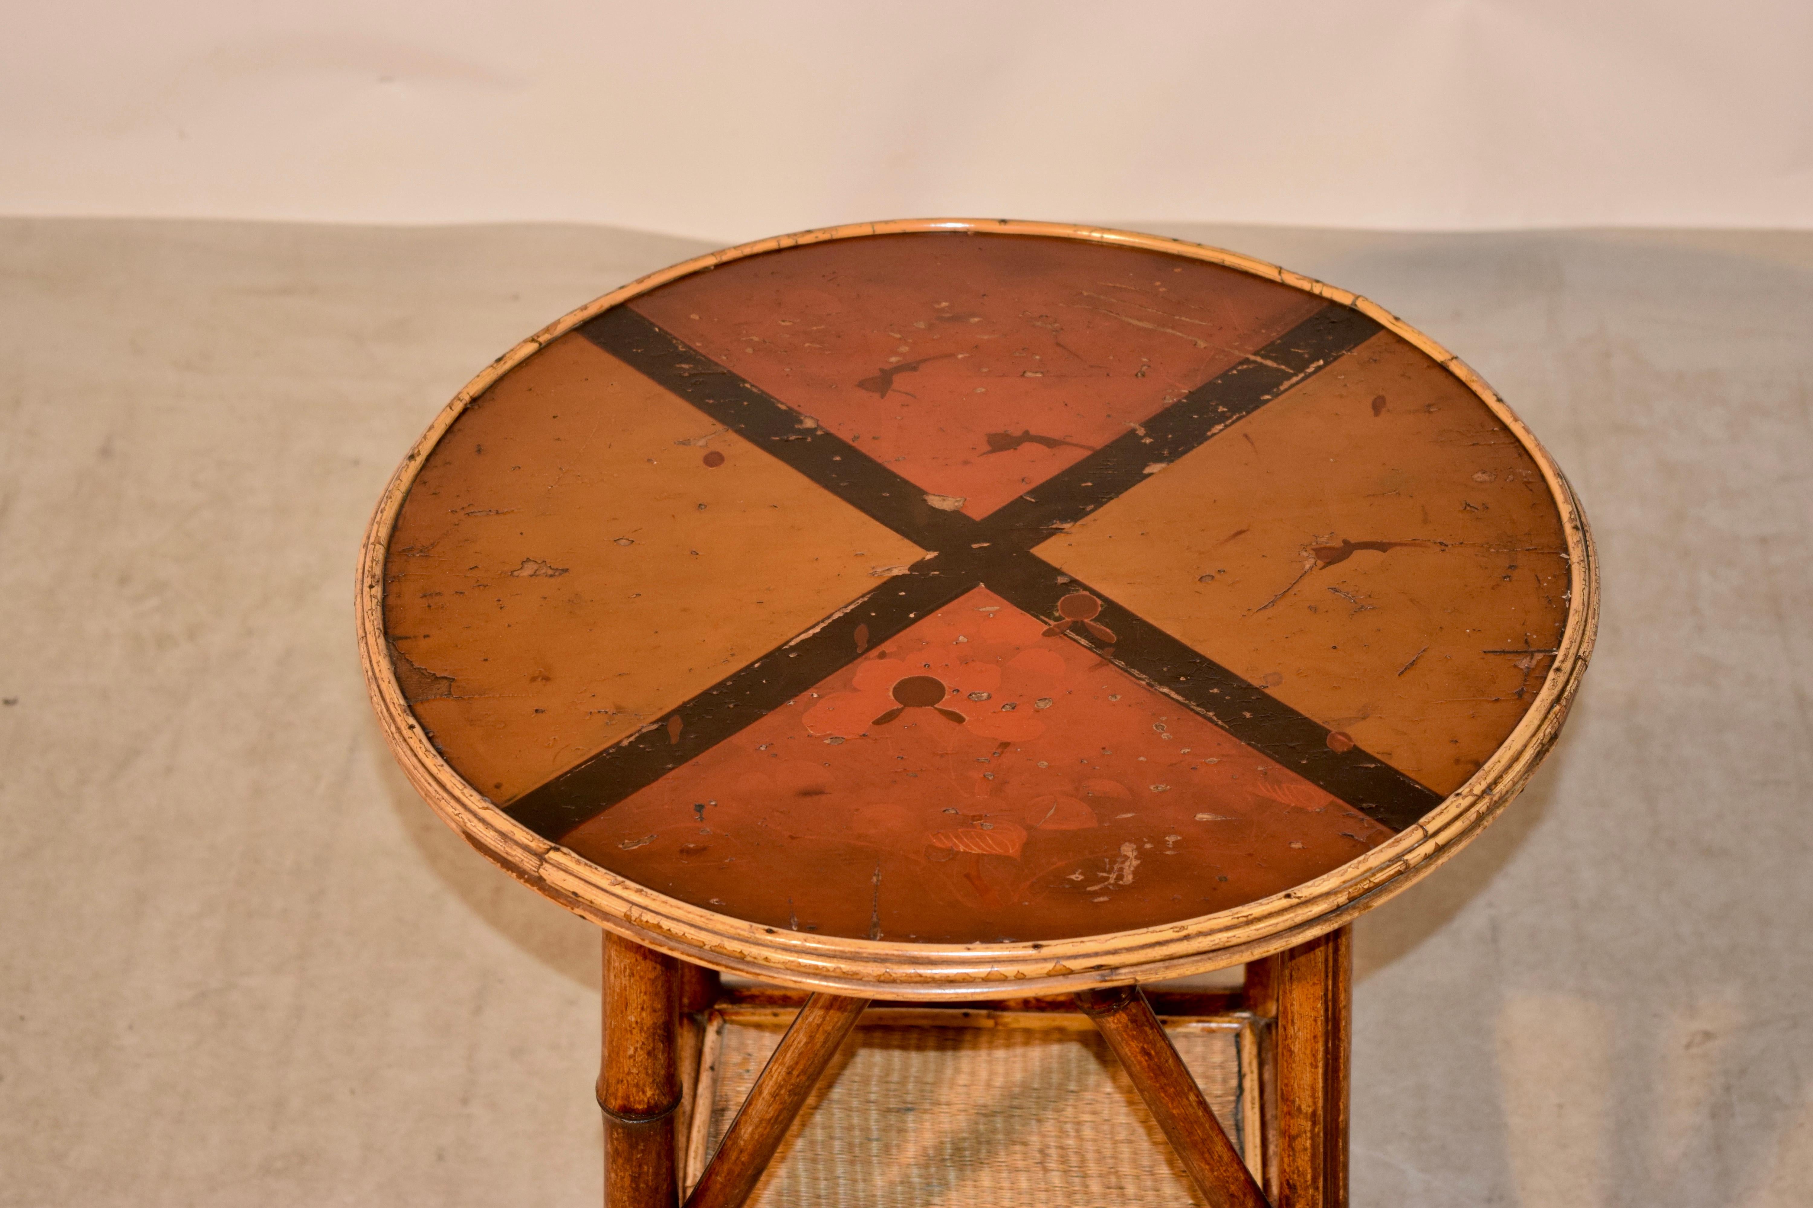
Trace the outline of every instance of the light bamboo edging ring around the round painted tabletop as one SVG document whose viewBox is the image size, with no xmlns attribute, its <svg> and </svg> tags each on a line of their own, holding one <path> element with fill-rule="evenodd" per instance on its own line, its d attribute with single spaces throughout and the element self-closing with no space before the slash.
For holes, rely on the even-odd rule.
<svg viewBox="0 0 1813 1208">
<path fill-rule="evenodd" d="M 1414 344 L 1459 379 L 1517 436 L 1561 513 L 1568 556 L 1568 618 L 1554 663 L 1528 712 L 1479 770 L 1420 822 L 1362 857 L 1284 893 L 1198 918 L 1108 935 L 1017 944 L 905 944 L 787 933 L 654 893 L 551 844 L 466 784 L 435 752 L 410 712 L 388 659 L 384 551 L 397 513 L 428 451 L 461 411 L 504 373 L 595 315 L 678 277 L 763 252 L 830 239 L 908 232 L 1042 235 L 1110 243 L 1222 264 L 1349 306 Z M 557 319 L 484 368 L 442 407 L 392 475 L 359 549 L 355 596 L 359 661 L 384 737 L 410 784 L 479 853 L 573 913 L 671 956 L 803 989 L 897 1000 L 1064 994 L 1095 985 L 1209 973 L 1313 940 L 1409 889 L 1447 862 L 1510 804 L 1554 746 L 1592 656 L 1599 627 L 1599 569 L 1574 489 L 1523 420 L 1454 353 L 1382 306 L 1347 290 L 1236 252 L 1068 223 L 1012 219 L 897 219 L 776 235 L 684 261 L 613 290 Z"/>
</svg>

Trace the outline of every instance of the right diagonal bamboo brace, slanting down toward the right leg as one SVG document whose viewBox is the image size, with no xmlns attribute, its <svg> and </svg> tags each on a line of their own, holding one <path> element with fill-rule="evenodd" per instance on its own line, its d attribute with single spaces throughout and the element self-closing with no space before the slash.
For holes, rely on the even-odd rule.
<svg viewBox="0 0 1813 1208">
<path fill-rule="evenodd" d="M 1084 991 L 1077 1003 L 1120 1058 L 1153 1119 L 1213 1208 L 1267 1208 L 1265 1194 L 1215 1119 L 1197 1079 L 1137 985 Z"/>
</svg>

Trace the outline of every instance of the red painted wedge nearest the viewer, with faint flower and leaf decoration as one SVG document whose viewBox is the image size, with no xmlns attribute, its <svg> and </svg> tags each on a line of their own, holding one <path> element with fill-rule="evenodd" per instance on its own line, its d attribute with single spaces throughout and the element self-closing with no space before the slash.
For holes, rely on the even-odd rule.
<svg viewBox="0 0 1813 1208">
<path fill-rule="evenodd" d="M 975 589 L 564 844 L 776 929 L 963 944 L 1207 915 L 1389 837 L 1046 627 Z"/>
</svg>

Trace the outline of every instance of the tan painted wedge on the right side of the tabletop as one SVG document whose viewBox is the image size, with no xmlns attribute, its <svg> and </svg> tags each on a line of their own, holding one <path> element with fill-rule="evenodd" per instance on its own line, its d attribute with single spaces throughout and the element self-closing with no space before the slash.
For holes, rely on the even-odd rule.
<svg viewBox="0 0 1813 1208">
<path fill-rule="evenodd" d="M 1548 672 L 1565 551 L 1510 429 L 1387 331 L 1035 552 L 1450 793 Z"/>
</svg>

